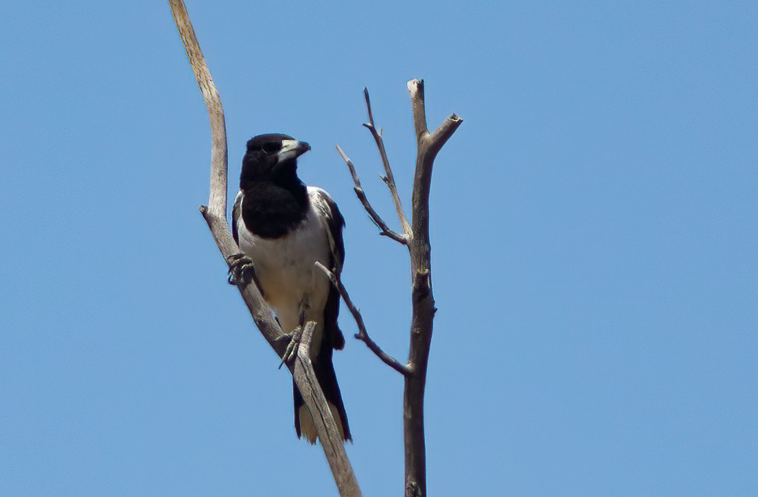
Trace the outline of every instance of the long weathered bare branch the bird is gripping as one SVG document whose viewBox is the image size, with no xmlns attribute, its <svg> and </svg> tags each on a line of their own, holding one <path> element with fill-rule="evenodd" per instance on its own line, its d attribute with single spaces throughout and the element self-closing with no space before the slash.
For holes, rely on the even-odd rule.
<svg viewBox="0 0 758 497">
<path fill-rule="evenodd" d="M 208 223 L 211 235 L 221 251 L 221 255 L 229 262 L 229 257 L 240 253 L 227 225 L 227 138 L 224 124 L 224 109 L 221 98 L 215 88 L 211 73 L 205 64 L 205 58 L 197 42 L 192 23 L 189 20 L 183 0 L 169 0 L 174 21 L 181 36 L 184 49 L 193 68 L 197 83 L 208 108 L 211 121 L 211 188 L 208 207 L 201 206 L 200 212 Z M 238 284 L 237 289 L 252 315 L 255 325 L 263 337 L 277 353 L 283 357 L 290 343 L 290 335 L 280 328 L 271 307 L 264 300 L 258 286 L 255 284 Z M 327 458 L 340 495 L 350 497 L 361 495 L 356 475 L 347 458 L 340 431 L 328 408 L 324 392 L 318 384 L 313 371 L 313 365 L 308 356 L 313 324 L 309 323 L 303 333 L 302 342 L 298 349 L 298 360 L 287 365 L 296 386 L 302 393 L 305 406 L 308 408 L 316 426 L 318 440 Z"/>
</svg>

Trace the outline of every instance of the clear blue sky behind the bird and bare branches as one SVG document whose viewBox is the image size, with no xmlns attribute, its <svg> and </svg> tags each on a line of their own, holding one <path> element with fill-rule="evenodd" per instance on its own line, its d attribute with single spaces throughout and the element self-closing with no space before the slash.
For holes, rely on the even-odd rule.
<svg viewBox="0 0 758 497">
<path fill-rule="evenodd" d="M 270 3 L 270 2 L 269 2 Z M 244 143 L 309 141 L 344 281 L 407 352 L 406 81 L 465 119 L 432 192 L 431 495 L 758 493 L 752 2 L 188 2 Z M 167 2 L 0 6 L 0 494 L 334 495 L 202 217 L 209 139 Z M 346 335 L 354 324 L 343 309 Z M 402 492 L 402 381 L 336 355 L 365 495 Z"/>
</svg>

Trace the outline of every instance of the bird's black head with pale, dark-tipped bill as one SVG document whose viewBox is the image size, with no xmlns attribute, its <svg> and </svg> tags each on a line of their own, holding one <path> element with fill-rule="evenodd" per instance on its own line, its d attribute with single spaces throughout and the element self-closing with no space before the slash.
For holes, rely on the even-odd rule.
<svg viewBox="0 0 758 497">
<path fill-rule="evenodd" d="M 305 141 L 288 135 L 258 135 L 247 142 L 240 188 L 249 182 L 290 183 L 297 179 L 297 157 L 311 150 Z"/>
</svg>

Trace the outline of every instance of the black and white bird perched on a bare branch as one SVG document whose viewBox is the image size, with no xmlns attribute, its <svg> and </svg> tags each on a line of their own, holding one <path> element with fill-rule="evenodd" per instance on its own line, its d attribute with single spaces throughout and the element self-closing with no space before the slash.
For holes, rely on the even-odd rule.
<svg viewBox="0 0 758 497">
<path fill-rule="evenodd" d="M 297 158 L 310 149 L 305 141 L 287 135 L 258 135 L 247 142 L 232 234 L 252 260 L 252 280 L 283 331 L 291 333 L 307 321 L 317 323 L 309 351 L 313 367 L 340 435 L 352 440 L 332 365 L 332 351 L 345 345 L 337 327 L 340 294 L 315 266 L 318 261 L 340 274 L 345 221 L 326 191 L 306 186 L 297 176 Z M 230 274 L 234 269 L 233 264 Z M 315 425 L 294 384 L 293 392 L 297 436 L 315 443 Z"/>
</svg>

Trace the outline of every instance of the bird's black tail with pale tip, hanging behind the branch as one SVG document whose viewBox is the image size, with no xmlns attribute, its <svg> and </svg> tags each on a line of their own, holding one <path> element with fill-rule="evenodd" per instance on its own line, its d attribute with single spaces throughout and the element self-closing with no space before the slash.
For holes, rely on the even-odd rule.
<svg viewBox="0 0 758 497">
<path fill-rule="evenodd" d="M 343 440 L 352 441 L 350 427 L 347 424 L 345 405 L 342 402 L 340 386 L 337 384 L 337 374 L 334 373 L 331 350 L 328 351 L 328 354 L 324 353 L 318 357 L 313 363 L 313 369 L 316 373 L 318 384 L 321 386 L 321 390 L 324 390 L 324 397 L 327 399 L 327 404 L 334 416 L 334 421 L 337 422 L 340 436 L 342 436 Z M 313 423 L 311 413 L 308 411 L 308 408 L 305 407 L 300 391 L 297 390 L 294 381 L 292 387 L 295 399 L 295 430 L 297 431 L 297 437 L 300 438 L 300 436 L 305 436 L 305 440 L 308 440 L 310 443 L 316 443 L 316 426 Z"/>
</svg>

